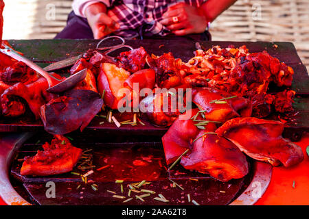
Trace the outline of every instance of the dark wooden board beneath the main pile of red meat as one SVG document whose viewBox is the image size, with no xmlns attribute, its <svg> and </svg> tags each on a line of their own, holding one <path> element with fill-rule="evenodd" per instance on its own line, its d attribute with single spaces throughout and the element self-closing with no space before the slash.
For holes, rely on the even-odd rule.
<svg viewBox="0 0 309 219">
<path fill-rule="evenodd" d="M 80 55 L 88 49 L 94 49 L 98 40 L 9 40 L 10 44 L 17 51 L 21 51 L 24 55 L 41 66 L 47 66 L 49 63 L 63 60 L 67 57 Z M 126 44 L 133 48 L 144 47 L 148 53 L 162 55 L 163 53 L 172 52 L 174 57 L 179 57 L 183 61 L 189 60 L 194 56 L 195 42 L 183 39 L 177 40 L 128 40 Z M 290 42 L 200 42 L 203 47 L 209 49 L 214 45 L 220 47 L 228 47 L 234 44 L 236 47 L 246 45 L 250 52 L 260 52 L 266 50 L 270 55 L 277 57 L 281 62 L 285 62 L 288 66 L 293 67 L 295 75 L 292 88 L 297 92 L 297 99 L 294 103 L 295 116 L 282 116 L 287 120 L 284 137 L 293 141 L 298 141 L 304 131 L 309 131 L 309 77 L 304 64 L 301 63 L 297 55 L 294 45 Z M 275 93 L 281 91 L 282 88 L 271 88 L 270 92 Z M 113 114 L 121 121 L 122 118 Z M 123 117 L 130 115 L 122 115 Z M 277 115 L 273 115 L 272 119 L 277 119 Z M 122 135 L 150 135 L 163 136 L 166 128 L 155 127 L 144 120 L 145 126 L 139 124 L 135 127 L 123 125 L 117 128 L 112 123 L 102 122 L 102 118 L 95 117 L 93 121 L 84 131 L 96 132 L 104 131 L 106 135 L 119 133 Z M 35 121 L 33 116 L 28 115 L 21 118 L 0 118 L 0 131 L 42 131 L 44 129 L 41 120 Z"/>
</svg>

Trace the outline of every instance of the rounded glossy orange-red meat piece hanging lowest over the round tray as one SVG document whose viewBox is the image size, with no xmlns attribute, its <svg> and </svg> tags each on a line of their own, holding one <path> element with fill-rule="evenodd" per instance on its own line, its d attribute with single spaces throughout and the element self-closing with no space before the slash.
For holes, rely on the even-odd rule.
<svg viewBox="0 0 309 219">
<path fill-rule="evenodd" d="M 208 173 L 220 181 L 246 176 L 249 172 L 246 155 L 227 139 L 211 133 L 203 136 L 205 132 L 198 133 L 198 140 L 191 153 L 182 157 L 181 165 L 188 170 Z"/>
</svg>

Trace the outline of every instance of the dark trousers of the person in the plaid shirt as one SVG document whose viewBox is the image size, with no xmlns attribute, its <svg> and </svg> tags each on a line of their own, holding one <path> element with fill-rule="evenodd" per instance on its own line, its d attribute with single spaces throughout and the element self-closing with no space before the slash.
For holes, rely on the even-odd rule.
<svg viewBox="0 0 309 219">
<path fill-rule="evenodd" d="M 152 39 L 170 39 L 170 40 L 181 40 L 183 38 L 189 38 L 190 40 L 211 40 L 209 31 L 205 31 L 202 34 L 190 34 L 186 36 L 174 36 L 172 34 L 168 36 L 142 36 L 139 38 L 152 38 Z M 71 12 L 67 18 L 67 26 L 57 34 L 55 39 L 93 39 L 93 33 L 86 18 L 82 18 Z"/>
</svg>

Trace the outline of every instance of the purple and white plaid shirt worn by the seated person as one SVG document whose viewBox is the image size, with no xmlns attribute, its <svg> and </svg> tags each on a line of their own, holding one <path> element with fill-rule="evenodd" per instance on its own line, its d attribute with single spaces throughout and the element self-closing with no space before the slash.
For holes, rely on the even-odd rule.
<svg viewBox="0 0 309 219">
<path fill-rule="evenodd" d="M 206 0 L 182 0 L 199 7 Z M 108 16 L 119 23 L 120 28 L 115 32 L 124 38 L 135 38 L 143 32 L 146 36 L 165 36 L 170 30 L 161 25 L 162 15 L 170 5 L 179 0 L 74 0 L 72 7 L 78 16 L 84 17 L 87 6 L 102 2 L 108 8 Z"/>
</svg>

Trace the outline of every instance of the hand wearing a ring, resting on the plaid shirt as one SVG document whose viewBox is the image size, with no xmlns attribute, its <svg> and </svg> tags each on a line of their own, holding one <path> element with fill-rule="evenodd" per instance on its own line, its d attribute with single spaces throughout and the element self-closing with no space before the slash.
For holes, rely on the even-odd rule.
<svg viewBox="0 0 309 219">
<path fill-rule="evenodd" d="M 178 36 L 203 33 L 207 28 L 203 10 L 183 2 L 170 6 L 160 23 Z"/>
</svg>

